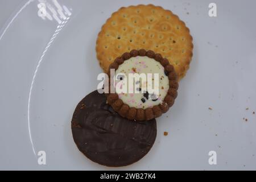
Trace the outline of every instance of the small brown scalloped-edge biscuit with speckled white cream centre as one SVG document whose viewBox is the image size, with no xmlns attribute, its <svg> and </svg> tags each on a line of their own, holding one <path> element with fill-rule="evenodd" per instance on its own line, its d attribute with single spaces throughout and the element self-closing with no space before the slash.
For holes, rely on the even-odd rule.
<svg viewBox="0 0 256 182">
<path fill-rule="evenodd" d="M 115 71 L 114 79 L 110 69 Z M 152 50 L 133 49 L 123 53 L 110 65 L 108 76 L 113 80 L 109 81 L 109 88 L 115 91 L 106 93 L 108 104 L 127 119 L 143 121 L 159 117 L 177 97 L 179 84 L 174 67 Z"/>
</svg>

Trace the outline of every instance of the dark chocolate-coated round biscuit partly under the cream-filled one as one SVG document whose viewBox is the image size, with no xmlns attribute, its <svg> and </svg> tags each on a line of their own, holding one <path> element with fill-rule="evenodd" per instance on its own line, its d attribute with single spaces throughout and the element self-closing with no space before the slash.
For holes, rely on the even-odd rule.
<svg viewBox="0 0 256 182">
<path fill-rule="evenodd" d="M 110 167 L 137 162 L 156 138 L 155 119 L 131 122 L 106 104 L 105 94 L 97 90 L 79 102 L 71 128 L 79 150 L 93 162 Z"/>
</svg>

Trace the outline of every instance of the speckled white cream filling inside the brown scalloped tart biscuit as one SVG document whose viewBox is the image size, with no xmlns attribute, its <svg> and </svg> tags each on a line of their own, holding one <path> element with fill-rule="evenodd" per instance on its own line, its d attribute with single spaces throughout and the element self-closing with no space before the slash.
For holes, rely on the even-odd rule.
<svg viewBox="0 0 256 182">
<path fill-rule="evenodd" d="M 129 81 L 131 81 L 131 79 L 129 80 L 129 73 L 138 73 L 139 75 L 141 73 L 145 73 L 147 78 L 148 73 L 151 73 L 152 85 L 150 84 L 151 81 L 146 79 L 144 81 L 140 80 L 139 82 L 134 81 L 134 85 L 130 86 Z M 154 73 L 157 73 L 158 80 L 154 80 Z M 115 88 L 115 91 L 118 91 L 118 96 L 123 103 L 137 109 L 146 109 L 148 107 L 159 105 L 163 102 L 169 89 L 169 80 L 164 74 L 164 67 L 158 61 L 147 56 L 131 57 L 129 60 L 126 60 L 123 64 L 119 65 L 118 69 L 115 71 L 116 76 L 124 74 L 127 78 L 127 82 L 121 80 L 121 83 L 118 84 L 119 81 L 115 81 L 115 85 L 122 85 L 124 88 L 127 86 L 127 89 L 125 89 L 126 92 L 124 93 L 120 93 L 117 90 L 117 86 Z M 155 81 L 158 81 L 158 84 L 155 85 Z M 152 90 L 150 91 L 149 88 L 151 88 L 151 86 L 154 90 L 157 89 L 157 94 L 152 93 Z M 135 93 L 136 88 L 138 88 L 137 92 L 139 93 Z M 143 88 L 146 89 L 144 90 L 145 92 L 148 91 L 148 97 L 147 94 L 142 93 Z"/>
</svg>

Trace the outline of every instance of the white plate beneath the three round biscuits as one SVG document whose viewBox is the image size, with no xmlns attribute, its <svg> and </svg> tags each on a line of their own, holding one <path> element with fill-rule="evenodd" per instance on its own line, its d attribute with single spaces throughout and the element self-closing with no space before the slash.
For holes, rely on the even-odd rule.
<svg viewBox="0 0 256 182">
<path fill-rule="evenodd" d="M 194 56 L 175 105 L 157 119 L 151 151 L 122 168 L 86 159 L 73 142 L 71 118 L 102 72 L 95 52 L 102 24 L 141 1 L 57 2 L 71 13 L 63 24 L 38 16 L 36 0 L 0 1 L 0 169 L 256 169 L 255 1 L 215 1 L 212 18 L 210 1 L 146 2 L 184 20 Z M 46 165 L 38 164 L 39 151 Z M 209 165 L 209 151 L 216 151 L 216 165 Z"/>
</svg>

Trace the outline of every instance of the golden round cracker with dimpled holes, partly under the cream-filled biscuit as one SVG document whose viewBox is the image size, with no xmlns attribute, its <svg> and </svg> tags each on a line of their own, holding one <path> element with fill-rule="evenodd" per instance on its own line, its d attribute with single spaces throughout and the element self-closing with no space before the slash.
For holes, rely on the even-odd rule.
<svg viewBox="0 0 256 182">
<path fill-rule="evenodd" d="M 114 59 L 132 49 L 160 53 L 174 65 L 179 79 L 192 58 L 192 36 L 170 10 L 154 5 L 122 7 L 102 26 L 96 43 L 97 59 L 105 72 Z"/>
</svg>

